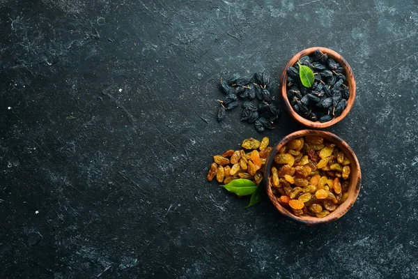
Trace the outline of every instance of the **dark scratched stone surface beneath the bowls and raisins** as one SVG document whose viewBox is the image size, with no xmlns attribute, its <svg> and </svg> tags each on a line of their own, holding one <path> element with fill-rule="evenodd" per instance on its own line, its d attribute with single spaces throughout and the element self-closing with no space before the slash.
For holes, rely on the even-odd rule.
<svg viewBox="0 0 418 279">
<path fill-rule="evenodd" d="M 416 1 L 0 0 L 1 278 L 417 278 Z M 302 227 L 206 181 L 224 74 L 339 52 L 359 199 Z M 10 107 L 10 109 L 8 109 Z M 282 113 L 277 142 L 302 127 Z"/>
</svg>

